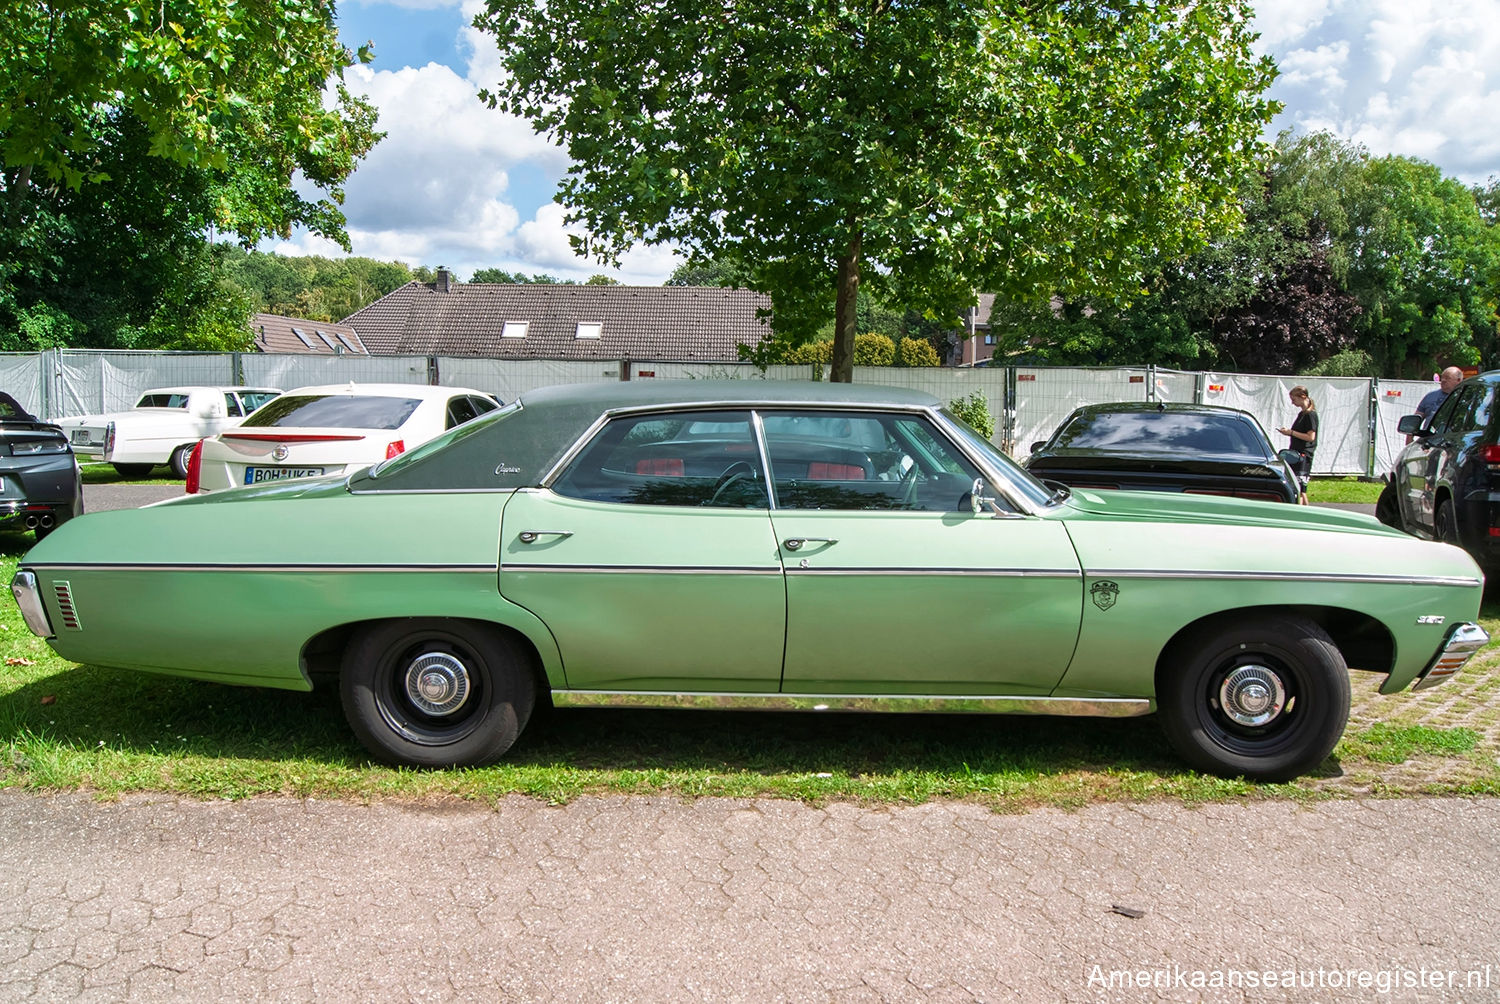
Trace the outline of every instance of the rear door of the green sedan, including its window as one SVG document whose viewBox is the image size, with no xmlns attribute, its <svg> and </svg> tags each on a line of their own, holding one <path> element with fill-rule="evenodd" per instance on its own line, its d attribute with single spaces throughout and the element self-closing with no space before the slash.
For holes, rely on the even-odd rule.
<svg viewBox="0 0 1500 1004">
<path fill-rule="evenodd" d="M 786 588 L 748 411 L 626 416 L 506 503 L 500 591 L 568 687 L 774 692 Z"/>
</svg>

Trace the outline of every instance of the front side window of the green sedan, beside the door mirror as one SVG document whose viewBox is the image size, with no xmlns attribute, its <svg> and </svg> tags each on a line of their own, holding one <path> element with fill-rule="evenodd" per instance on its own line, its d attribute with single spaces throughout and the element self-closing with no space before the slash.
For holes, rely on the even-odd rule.
<svg viewBox="0 0 1500 1004">
<path fill-rule="evenodd" d="M 768 411 L 778 509 L 963 512 L 980 471 L 916 414 Z"/>
</svg>

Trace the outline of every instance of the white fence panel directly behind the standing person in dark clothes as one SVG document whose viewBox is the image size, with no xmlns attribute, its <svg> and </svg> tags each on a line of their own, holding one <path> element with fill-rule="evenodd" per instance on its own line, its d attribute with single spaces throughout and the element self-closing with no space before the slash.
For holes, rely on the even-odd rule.
<svg viewBox="0 0 1500 1004">
<path fill-rule="evenodd" d="M 1276 429 L 1290 428 L 1298 410 L 1288 399 L 1293 387 L 1306 387 L 1317 407 L 1314 474 L 1364 474 L 1370 464 L 1370 393 L 1365 377 L 1270 377 L 1263 374 L 1206 374 L 1203 402 L 1250 411 L 1264 426 L 1278 450 L 1292 441 Z"/>
</svg>

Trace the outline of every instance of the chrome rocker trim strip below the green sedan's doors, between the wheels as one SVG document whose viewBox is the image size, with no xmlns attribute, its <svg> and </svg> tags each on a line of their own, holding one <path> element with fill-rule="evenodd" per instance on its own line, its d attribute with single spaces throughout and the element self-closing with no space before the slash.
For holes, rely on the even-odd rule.
<svg viewBox="0 0 1500 1004">
<path fill-rule="evenodd" d="M 554 690 L 560 708 L 690 708 L 740 711 L 932 711 L 939 714 L 1150 714 L 1144 698 L 1048 698 L 882 693 L 676 693 L 672 690 Z"/>
</svg>

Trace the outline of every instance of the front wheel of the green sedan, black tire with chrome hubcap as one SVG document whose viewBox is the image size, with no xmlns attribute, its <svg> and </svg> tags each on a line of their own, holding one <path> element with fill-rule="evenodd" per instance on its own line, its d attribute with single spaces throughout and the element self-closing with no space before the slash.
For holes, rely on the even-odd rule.
<svg viewBox="0 0 1500 1004">
<path fill-rule="evenodd" d="M 1161 726 L 1198 770 L 1290 780 L 1322 764 L 1344 734 L 1348 668 L 1312 621 L 1260 617 L 1214 627 L 1172 659 L 1158 678 Z"/>
</svg>

